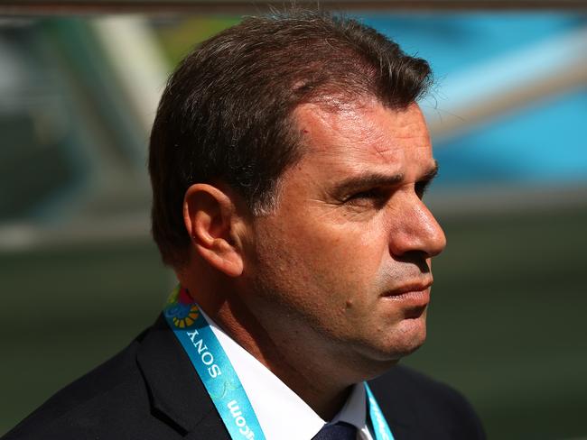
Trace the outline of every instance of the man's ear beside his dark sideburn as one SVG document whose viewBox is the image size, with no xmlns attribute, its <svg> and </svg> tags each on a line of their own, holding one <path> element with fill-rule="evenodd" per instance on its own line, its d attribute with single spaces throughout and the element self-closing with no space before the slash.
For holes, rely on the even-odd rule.
<svg viewBox="0 0 587 440">
<path fill-rule="evenodd" d="M 193 248 L 229 277 L 238 277 L 244 267 L 235 197 L 232 191 L 205 183 L 192 185 L 183 197 L 183 221 Z"/>
</svg>

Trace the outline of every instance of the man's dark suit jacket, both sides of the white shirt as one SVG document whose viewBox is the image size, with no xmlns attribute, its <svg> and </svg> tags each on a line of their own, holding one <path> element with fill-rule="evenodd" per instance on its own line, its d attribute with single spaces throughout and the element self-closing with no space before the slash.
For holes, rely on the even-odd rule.
<svg viewBox="0 0 587 440">
<path fill-rule="evenodd" d="M 396 440 L 484 438 L 478 418 L 460 394 L 415 371 L 397 366 L 370 386 Z M 182 346 L 160 316 L 123 352 L 59 391 L 4 438 L 229 436 Z"/>
</svg>

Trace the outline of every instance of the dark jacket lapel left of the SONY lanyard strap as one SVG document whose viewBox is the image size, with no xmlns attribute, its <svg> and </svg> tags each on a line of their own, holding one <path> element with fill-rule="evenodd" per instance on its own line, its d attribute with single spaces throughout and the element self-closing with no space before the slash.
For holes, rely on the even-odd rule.
<svg viewBox="0 0 587 440">
<path fill-rule="evenodd" d="M 200 377 L 163 316 L 144 334 L 136 355 L 154 416 L 187 438 L 229 439 Z"/>
</svg>

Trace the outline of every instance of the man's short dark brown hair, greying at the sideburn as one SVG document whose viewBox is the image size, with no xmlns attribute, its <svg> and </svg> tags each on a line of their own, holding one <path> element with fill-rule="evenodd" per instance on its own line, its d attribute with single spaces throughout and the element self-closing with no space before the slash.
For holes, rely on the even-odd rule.
<svg viewBox="0 0 587 440">
<path fill-rule="evenodd" d="M 247 17 L 203 41 L 175 69 L 151 133 L 153 235 L 163 261 L 181 265 L 190 237 L 185 191 L 221 180 L 256 215 L 303 155 L 293 109 L 325 96 L 373 96 L 405 108 L 432 81 L 424 60 L 359 21 L 323 12 Z"/>
</svg>

